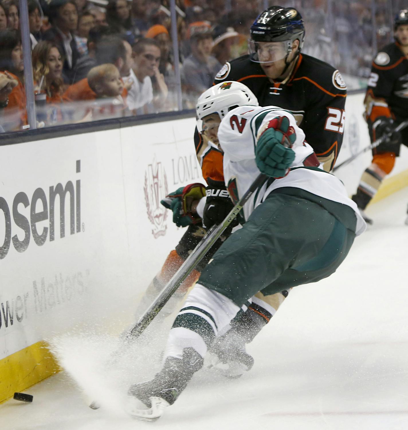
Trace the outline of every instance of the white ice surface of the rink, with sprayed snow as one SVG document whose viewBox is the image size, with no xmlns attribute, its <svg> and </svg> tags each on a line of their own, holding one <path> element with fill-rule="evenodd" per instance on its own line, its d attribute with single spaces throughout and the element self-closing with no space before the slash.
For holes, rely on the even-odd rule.
<svg viewBox="0 0 408 430">
<path fill-rule="evenodd" d="M 149 350 L 142 358 L 133 350 L 130 362 L 105 372 L 95 361 L 106 353 L 103 341 L 76 335 L 60 340 L 60 352 L 106 407 L 89 409 L 62 372 L 26 390 L 33 403 L 0 405 L 1 428 L 408 429 L 407 203 L 405 188 L 369 207 L 374 226 L 333 276 L 290 293 L 249 345 L 255 364 L 241 379 L 204 369 L 159 421 L 135 421 L 121 402 L 127 385 L 157 370 L 146 361 Z"/>
</svg>

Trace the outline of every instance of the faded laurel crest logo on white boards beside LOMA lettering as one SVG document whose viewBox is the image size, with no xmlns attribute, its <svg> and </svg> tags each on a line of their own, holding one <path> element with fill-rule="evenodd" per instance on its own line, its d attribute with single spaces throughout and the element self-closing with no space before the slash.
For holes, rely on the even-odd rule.
<svg viewBox="0 0 408 430">
<path fill-rule="evenodd" d="M 169 194 L 166 171 L 160 161 L 156 162 L 154 160 L 152 164 L 148 165 L 143 190 L 145 192 L 147 215 L 149 221 L 153 224 L 151 233 L 157 239 L 157 237 L 166 234 L 167 209 L 160 204 L 160 200 Z"/>
</svg>

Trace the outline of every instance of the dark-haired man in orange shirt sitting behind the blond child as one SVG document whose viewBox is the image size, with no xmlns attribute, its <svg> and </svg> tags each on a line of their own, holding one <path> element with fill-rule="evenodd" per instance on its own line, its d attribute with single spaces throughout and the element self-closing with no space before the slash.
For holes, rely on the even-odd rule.
<svg viewBox="0 0 408 430">
<path fill-rule="evenodd" d="M 127 50 L 128 43 L 121 40 L 117 36 L 105 36 L 97 43 L 95 49 L 95 57 L 97 65 L 99 64 L 114 64 L 121 74 L 121 77 L 126 77 L 130 72 L 130 64 L 132 61 L 131 49 L 130 53 Z M 127 86 L 124 86 L 122 97 L 127 95 Z M 77 83 L 69 86 L 64 97 L 71 101 L 94 100 L 97 94 L 91 89 L 88 83 L 88 78 L 84 78 Z"/>
</svg>

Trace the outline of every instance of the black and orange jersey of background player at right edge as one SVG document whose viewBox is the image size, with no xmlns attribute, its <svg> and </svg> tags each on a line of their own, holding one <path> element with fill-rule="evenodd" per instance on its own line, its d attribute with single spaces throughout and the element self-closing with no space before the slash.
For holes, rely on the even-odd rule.
<svg viewBox="0 0 408 430">
<path fill-rule="evenodd" d="M 408 59 L 398 42 L 376 55 L 364 103 L 370 126 L 378 117 L 408 118 Z"/>
</svg>

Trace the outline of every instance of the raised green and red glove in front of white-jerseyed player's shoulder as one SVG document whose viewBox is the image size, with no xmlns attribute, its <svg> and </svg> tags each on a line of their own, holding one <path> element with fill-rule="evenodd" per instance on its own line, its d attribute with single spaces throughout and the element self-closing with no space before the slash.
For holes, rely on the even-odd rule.
<svg viewBox="0 0 408 430">
<path fill-rule="evenodd" d="M 274 118 L 258 138 L 255 161 L 264 175 L 282 178 L 289 172 L 295 159 L 295 151 L 290 148 L 296 140 L 295 130 L 289 124 L 288 117 Z"/>
</svg>

